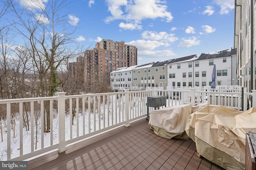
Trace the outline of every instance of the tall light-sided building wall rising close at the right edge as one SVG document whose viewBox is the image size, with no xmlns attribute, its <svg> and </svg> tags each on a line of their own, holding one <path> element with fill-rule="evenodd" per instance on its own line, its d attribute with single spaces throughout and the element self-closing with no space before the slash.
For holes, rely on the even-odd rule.
<svg viewBox="0 0 256 170">
<path fill-rule="evenodd" d="M 237 49 L 238 85 L 256 89 L 255 0 L 235 0 L 234 48 Z"/>
</svg>

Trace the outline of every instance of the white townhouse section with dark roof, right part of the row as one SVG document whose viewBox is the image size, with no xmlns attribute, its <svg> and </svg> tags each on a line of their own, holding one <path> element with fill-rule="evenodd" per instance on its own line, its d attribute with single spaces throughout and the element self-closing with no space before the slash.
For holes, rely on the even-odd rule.
<svg viewBox="0 0 256 170">
<path fill-rule="evenodd" d="M 216 86 L 237 85 L 236 49 L 226 49 L 169 63 L 168 89 L 210 86 L 214 64 L 216 65 Z"/>
</svg>

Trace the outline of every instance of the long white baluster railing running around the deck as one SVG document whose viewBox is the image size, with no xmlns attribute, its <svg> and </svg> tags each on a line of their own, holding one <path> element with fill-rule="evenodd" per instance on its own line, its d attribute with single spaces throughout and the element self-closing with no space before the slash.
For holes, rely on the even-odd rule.
<svg viewBox="0 0 256 170">
<path fill-rule="evenodd" d="M 0 100 L 2 115 L 6 115 L 1 120 L 0 160 L 26 160 L 55 149 L 63 152 L 74 142 L 121 125 L 129 126 L 131 121 L 146 117 L 148 96 L 168 96 L 166 106 L 207 102 L 239 110 L 247 109 L 249 96 L 256 101 L 256 90 L 244 93 L 242 109 L 241 92 L 206 89 L 124 90 L 74 96 L 59 92 L 54 97 Z M 49 133 L 44 132 L 46 113 Z M 32 128 L 26 130 L 24 122 Z"/>
</svg>

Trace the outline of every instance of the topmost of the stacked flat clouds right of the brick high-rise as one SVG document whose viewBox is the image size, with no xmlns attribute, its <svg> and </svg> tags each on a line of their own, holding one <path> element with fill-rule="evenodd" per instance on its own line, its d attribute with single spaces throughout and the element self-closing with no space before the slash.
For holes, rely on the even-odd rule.
<svg viewBox="0 0 256 170">
<path fill-rule="evenodd" d="M 142 34 L 142 38 L 156 40 L 156 41 L 164 41 L 164 42 L 174 42 L 178 40 L 177 37 L 174 37 L 175 34 L 168 34 L 166 32 L 159 32 L 156 31 L 144 31 Z"/>
</svg>

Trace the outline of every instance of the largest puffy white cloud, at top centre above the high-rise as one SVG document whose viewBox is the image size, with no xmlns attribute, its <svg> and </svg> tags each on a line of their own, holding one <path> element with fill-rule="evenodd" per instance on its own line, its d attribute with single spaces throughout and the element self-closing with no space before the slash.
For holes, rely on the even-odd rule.
<svg viewBox="0 0 256 170">
<path fill-rule="evenodd" d="M 105 19 L 106 23 L 125 20 L 133 25 L 138 25 L 144 19 L 162 18 L 166 22 L 173 19 L 163 0 L 130 0 L 129 2 L 127 0 L 106 0 L 106 2 L 108 10 L 112 14 Z M 120 26 L 124 26 L 124 24 L 122 23 Z M 138 29 L 138 27 L 135 28 Z"/>
</svg>

